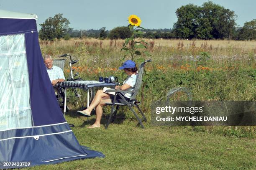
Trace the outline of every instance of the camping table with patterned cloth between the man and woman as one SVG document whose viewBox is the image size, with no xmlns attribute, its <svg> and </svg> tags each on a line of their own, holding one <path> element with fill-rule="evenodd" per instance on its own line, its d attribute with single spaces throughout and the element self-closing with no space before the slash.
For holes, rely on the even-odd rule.
<svg viewBox="0 0 256 170">
<path fill-rule="evenodd" d="M 90 93 L 89 93 L 89 88 L 92 88 L 92 97 L 94 97 L 94 88 L 95 87 L 111 87 L 111 86 L 116 86 L 118 83 L 104 83 L 100 81 L 95 81 L 95 80 L 80 80 L 80 81 L 64 81 L 61 82 L 60 86 L 65 88 L 65 97 L 64 97 L 64 117 L 66 115 L 66 102 L 67 102 L 67 88 L 79 88 L 83 90 L 87 90 L 87 108 L 89 107 L 89 99 L 90 99 Z"/>
</svg>

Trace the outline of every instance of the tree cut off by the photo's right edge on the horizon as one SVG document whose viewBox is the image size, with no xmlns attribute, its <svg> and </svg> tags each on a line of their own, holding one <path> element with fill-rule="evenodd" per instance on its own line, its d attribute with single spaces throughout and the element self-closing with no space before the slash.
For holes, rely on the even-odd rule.
<svg viewBox="0 0 256 170">
<path fill-rule="evenodd" d="M 246 22 L 239 31 L 238 38 L 240 40 L 256 39 L 256 19 Z"/>
</svg>

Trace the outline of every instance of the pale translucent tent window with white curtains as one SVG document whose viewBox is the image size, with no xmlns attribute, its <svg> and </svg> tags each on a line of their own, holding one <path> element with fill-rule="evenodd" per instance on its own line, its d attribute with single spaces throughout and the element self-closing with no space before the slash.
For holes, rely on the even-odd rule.
<svg viewBox="0 0 256 170">
<path fill-rule="evenodd" d="M 0 36 L 0 130 L 31 127 L 24 34 Z"/>
</svg>

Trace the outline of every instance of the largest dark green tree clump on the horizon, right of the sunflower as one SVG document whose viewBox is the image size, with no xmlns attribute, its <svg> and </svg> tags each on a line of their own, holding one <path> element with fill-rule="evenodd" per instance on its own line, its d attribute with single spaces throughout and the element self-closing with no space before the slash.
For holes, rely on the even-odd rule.
<svg viewBox="0 0 256 170">
<path fill-rule="evenodd" d="M 236 14 L 208 1 L 202 7 L 188 4 L 176 10 L 174 32 L 177 38 L 230 38 L 235 32 Z"/>
</svg>

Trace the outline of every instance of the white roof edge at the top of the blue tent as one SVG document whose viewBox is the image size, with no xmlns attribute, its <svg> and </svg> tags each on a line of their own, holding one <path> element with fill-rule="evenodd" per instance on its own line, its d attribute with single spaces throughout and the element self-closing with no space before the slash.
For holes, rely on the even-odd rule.
<svg viewBox="0 0 256 170">
<path fill-rule="evenodd" d="M 15 18 L 15 19 L 35 19 L 37 20 L 36 14 L 25 14 L 25 13 L 16 13 L 7 10 L 0 10 L 0 18 Z"/>
</svg>

